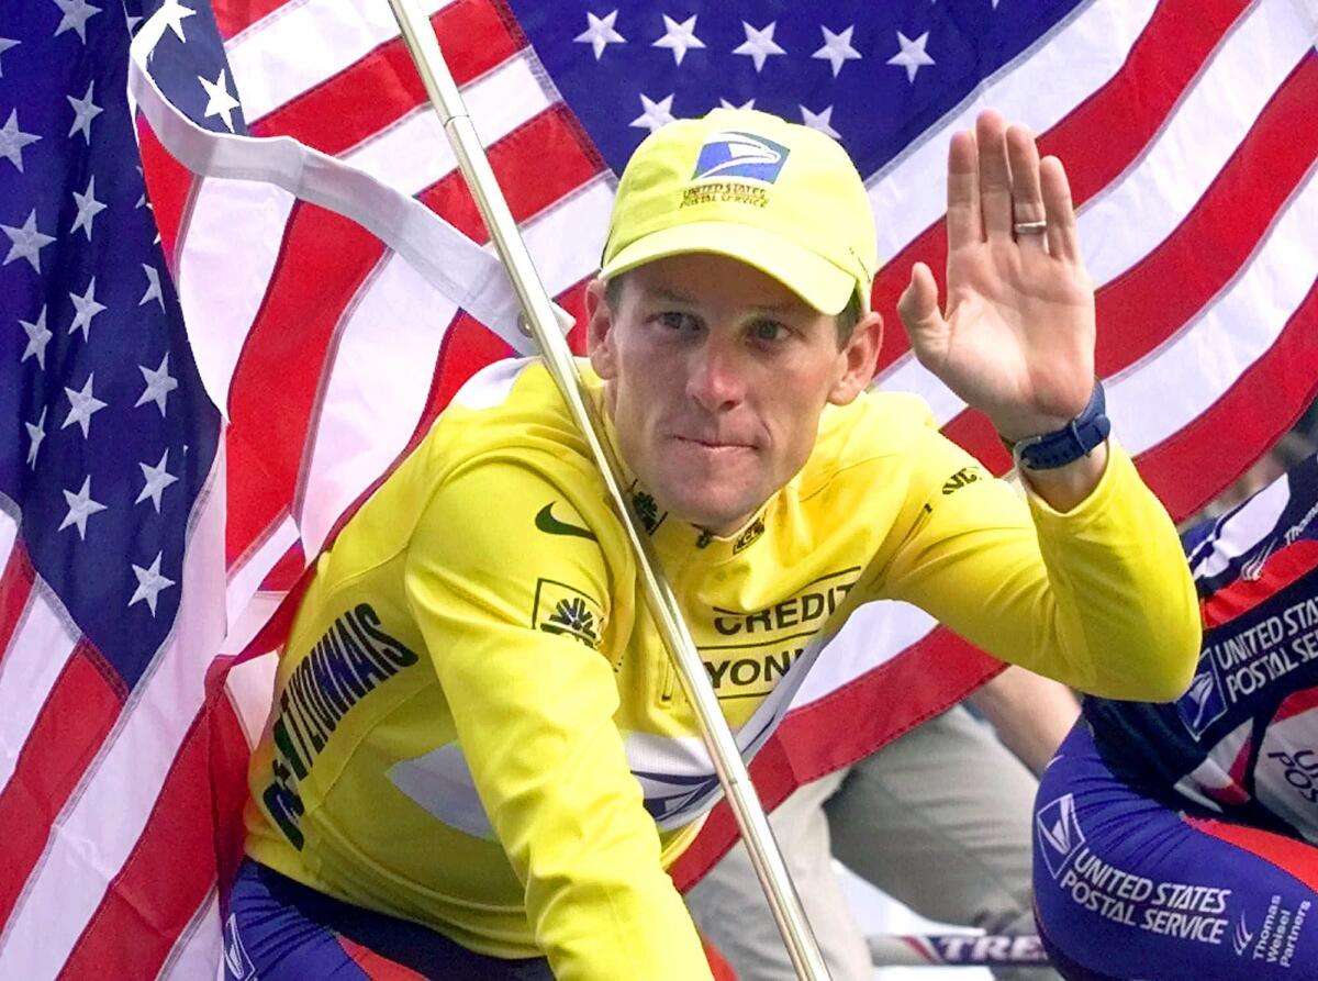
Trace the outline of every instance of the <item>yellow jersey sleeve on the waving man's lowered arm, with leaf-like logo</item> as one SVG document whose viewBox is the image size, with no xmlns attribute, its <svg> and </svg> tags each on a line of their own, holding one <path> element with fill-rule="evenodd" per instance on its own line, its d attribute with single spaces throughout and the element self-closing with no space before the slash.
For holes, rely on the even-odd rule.
<svg viewBox="0 0 1318 981">
<path fill-rule="evenodd" d="M 542 501 L 563 534 L 500 504 Z M 407 600 L 555 976 L 709 977 L 614 723 L 598 622 L 614 584 L 590 506 L 511 461 L 468 467 L 426 508 Z"/>
</svg>

